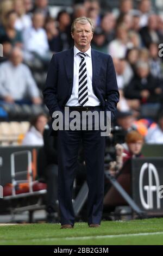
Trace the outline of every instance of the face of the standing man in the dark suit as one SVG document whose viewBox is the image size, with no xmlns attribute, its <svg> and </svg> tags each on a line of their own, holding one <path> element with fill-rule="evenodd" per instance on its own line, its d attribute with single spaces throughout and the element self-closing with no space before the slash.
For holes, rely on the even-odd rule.
<svg viewBox="0 0 163 256">
<path fill-rule="evenodd" d="M 89 49 L 93 32 L 90 23 L 82 24 L 77 22 L 74 31 L 71 33 L 74 44 L 77 48 Z"/>
</svg>

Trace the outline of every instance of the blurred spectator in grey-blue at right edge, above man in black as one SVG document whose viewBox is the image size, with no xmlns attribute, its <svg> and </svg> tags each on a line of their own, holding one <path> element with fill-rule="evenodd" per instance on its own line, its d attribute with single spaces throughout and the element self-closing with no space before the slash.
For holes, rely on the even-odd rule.
<svg viewBox="0 0 163 256">
<path fill-rule="evenodd" d="M 159 45 L 152 42 L 149 45 L 149 66 L 154 77 L 163 77 L 163 67 L 159 57 Z"/>
</svg>

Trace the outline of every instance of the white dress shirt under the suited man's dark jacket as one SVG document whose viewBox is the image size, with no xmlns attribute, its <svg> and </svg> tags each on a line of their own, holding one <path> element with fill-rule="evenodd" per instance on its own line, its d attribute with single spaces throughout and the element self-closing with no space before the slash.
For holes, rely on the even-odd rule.
<svg viewBox="0 0 163 256">
<path fill-rule="evenodd" d="M 70 99 L 68 99 L 66 106 L 81 106 L 78 102 L 78 87 L 79 87 L 79 64 L 81 61 L 78 55 L 78 48 L 74 46 L 74 65 L 73 65 L 73 87 Z M 88 98 L 89 100 L 84 106 L 99 106 L 100 101 L 96 97 L 92 88 L 92 57 L 91 57 L 91 47 L 86 52 L 85 62 L 86 62 L 86 73 L 87 73 L 87 88 L 88 88 Z"/>
</svg>

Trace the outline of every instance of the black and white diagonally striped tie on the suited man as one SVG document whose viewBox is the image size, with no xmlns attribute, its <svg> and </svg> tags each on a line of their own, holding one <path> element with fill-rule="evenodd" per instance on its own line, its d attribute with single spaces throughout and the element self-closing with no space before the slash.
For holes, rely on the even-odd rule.
<svg viewBox="0 0 163 256">
<path fill-rule="evenodd" d="M 86 62 L 85 62 L 86 54 L 83 52 L 79 52 L 78 55 L 81 58 L 81 61 L 79 64 L 78 101 L 80 105 L 84 106 L 84 104 L 88 101 L 87 75 L 86 75 Z"/>
</svg>

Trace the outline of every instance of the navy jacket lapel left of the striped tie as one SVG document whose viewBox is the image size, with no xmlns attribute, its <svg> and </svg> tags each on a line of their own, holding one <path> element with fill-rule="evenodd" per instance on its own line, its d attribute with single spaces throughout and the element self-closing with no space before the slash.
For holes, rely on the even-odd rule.
<svg viewBox="0 0 163 256">
<path fill-rule="evenodd" d="M 73 86 L 73 60 L 74 60 L 74 52 L 73 52 L 73 48 L 71 48 L 70 51 L 67 51 L 66 58 L 64 60 L 68 83 L 70 84 L 71 87 Z"/>
</svg>

